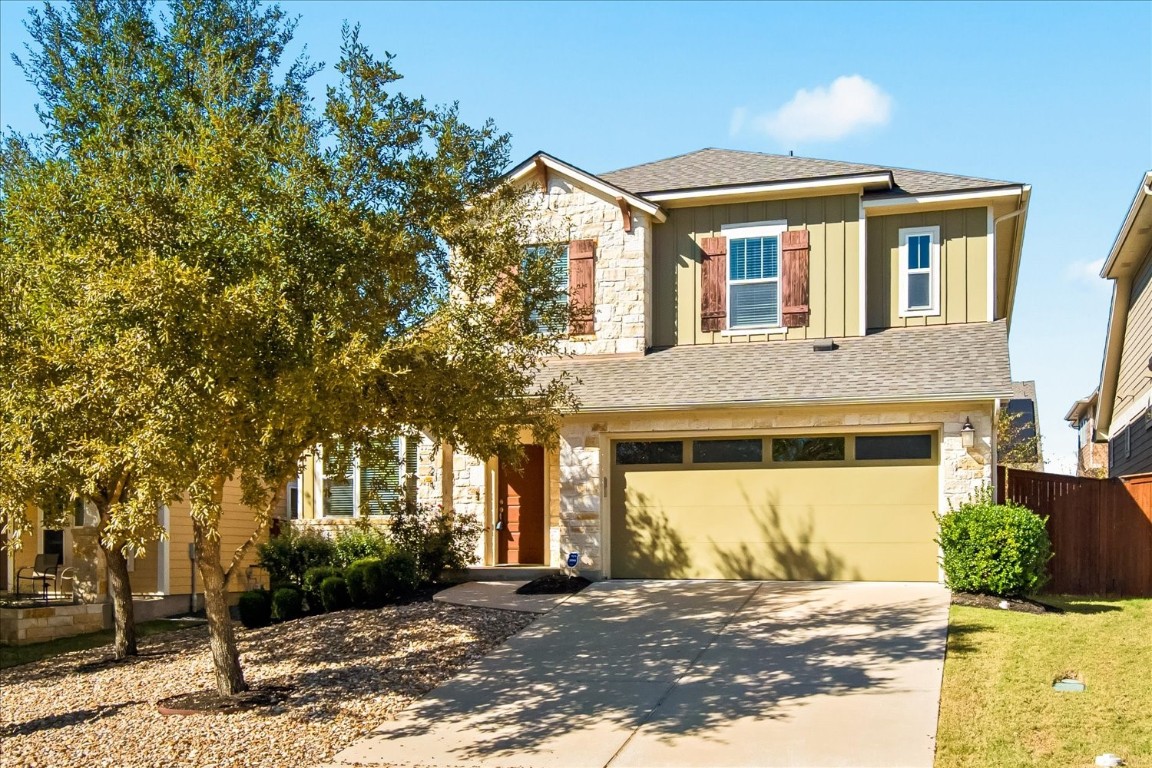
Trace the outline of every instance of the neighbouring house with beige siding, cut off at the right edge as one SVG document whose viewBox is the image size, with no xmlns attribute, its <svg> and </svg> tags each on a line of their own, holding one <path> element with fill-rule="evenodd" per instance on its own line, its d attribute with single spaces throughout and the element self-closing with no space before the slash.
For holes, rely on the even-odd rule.
<svg viewBox="0 0 1152 768">
<path fill-rule="evenodd" d="M 1152 472 L 1152 172 L 1144 174 L 1100 276 L 1113 281 L 1096 439 L 1108 477 Z"/>
</svg>

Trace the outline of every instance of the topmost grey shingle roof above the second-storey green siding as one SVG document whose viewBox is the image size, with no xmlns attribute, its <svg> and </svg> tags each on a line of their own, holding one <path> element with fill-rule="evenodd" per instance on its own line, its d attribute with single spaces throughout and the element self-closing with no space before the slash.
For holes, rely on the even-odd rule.
<svg viewBox="0 0 1152 768">
<path fill-rule="evenodd" d="M 738 150 L 706 149 L 688 154 L 645 162 L 599 174 L 604 181 L 635 195 L 670 190 L 757 184 L 854 174 L 892 172 L 899 189 L 870 193 L 867 197 L 892 195 L 924 195 L 956 190 L 1013 187 L 1014 182 L 957 176 L 930 170 L 911 170 L 886 166 L 795 158 L 788 154 L 766 154 Z"/>
</svg>

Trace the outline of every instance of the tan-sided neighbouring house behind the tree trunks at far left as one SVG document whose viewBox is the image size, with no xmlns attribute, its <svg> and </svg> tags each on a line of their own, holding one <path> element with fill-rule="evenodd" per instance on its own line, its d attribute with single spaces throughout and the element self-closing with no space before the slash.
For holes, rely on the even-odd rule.
<svg viewBox="0 0 1152 768">
<path fill-rule="evenodd" d="M 225 486 L 220 514 L 221 558 L 225 567 L 232 562 L 236 548 L 248 540 L 255 529 L 252 510 L 240 501 L 240 482 Z M 15 575 L 21 568 L 32 565 L 37 554 L 60 555 L 65 568 L 71 569 L 71 579 L 61 586 L 68 594 L 73 587 L 85 602 L 100 601 L 107 596 L 107 568 L 104 553 L 97 541 L 98 518 L 92 509 L 76 504 L 71 510 L 71 525 L 63 530 L 44 526 L 38 509 L 29 510 L 32 520 L 30 535 L 24 537 L 18 550 L 5 553 L 0 567 L 5 567 L 5 584 L 12 592 L 16 590 Z M 137 619 L 150 616 L 170 615 L 187 611 L 192 594 L 192 519 L 187 502 L 176 502 L 160 509 L 159 523 L 168 531 L 165 541 L 151 542 L 143 554 L 129 557 L 128 570 L 132 594 L 139 598 Z M 263 570 L 251 568 L 256 563 L 255 548 L 250 548 L 234 577 L 228 583 L 229 592 L 238 593 L 258 585 L 267 586 Z M 196 592 L 200 593 L 199 572 L 195 578 Z M 26 591 L 29 585 L 22 584 Z M 197 601 L 197 606 L 203 604 Z M 146 611 L 146 615 L 144 613 Z"/>
</svg>

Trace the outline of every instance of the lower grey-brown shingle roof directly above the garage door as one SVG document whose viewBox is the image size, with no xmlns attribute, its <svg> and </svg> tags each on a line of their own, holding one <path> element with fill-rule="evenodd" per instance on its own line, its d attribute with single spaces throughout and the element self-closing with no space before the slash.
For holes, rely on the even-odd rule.
<svg viewBox="0 0 1152 768">
<path fill-rule="evenodd" d="M 632 358 L 556 358 L 585 411 L 791 402 L 903 402 L 1010 397 L 1003 320 L 889 328 L 836 340 L 684 345 Z"/>
</svg>

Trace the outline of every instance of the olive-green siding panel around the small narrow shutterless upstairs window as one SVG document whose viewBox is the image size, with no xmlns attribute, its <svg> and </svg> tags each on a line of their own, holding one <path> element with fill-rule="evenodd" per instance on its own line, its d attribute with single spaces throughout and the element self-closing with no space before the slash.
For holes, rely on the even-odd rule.
<svg viewBox="0 0 1152 768">
<path fill-rule="evenodd" d="M 940 227 L 940 313 L 937 315 L 900 317 L 900 230 L 909 227 Z M 987 207 L 869 216 L 869 329 L 987 319 Z"/>
</svg>

